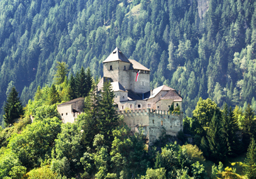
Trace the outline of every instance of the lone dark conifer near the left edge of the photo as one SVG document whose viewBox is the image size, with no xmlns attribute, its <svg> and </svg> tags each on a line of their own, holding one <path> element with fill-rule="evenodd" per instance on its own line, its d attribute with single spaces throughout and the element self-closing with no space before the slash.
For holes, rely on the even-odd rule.
<svg viewBox="0 0 256 179">
<path fill-rule="evenodd" d="M 15 119 L 18 119 L 20 116 L 23 116 L 24 111 L 21 104 L 21 101 L 18 97 L 18 92 L 15 87 L 11 89 L 7 97 L 7 102 L 4 106 L 4 123 L 5 126 L 9 126 L 9 124 L 13 124 Z"/>
</svg>

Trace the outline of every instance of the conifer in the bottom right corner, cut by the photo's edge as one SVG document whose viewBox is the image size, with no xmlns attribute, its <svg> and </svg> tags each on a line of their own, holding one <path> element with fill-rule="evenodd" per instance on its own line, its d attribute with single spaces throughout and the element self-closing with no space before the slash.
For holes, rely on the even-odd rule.
<svg viewBox="0 0 256 179">
<path fill-rule="evenodd" d="M 243 165 L 243 173 L 248 178 L 256 178 L 256 144 L 253 138 L 248 147 L 247 156 Z"/>
</svg>

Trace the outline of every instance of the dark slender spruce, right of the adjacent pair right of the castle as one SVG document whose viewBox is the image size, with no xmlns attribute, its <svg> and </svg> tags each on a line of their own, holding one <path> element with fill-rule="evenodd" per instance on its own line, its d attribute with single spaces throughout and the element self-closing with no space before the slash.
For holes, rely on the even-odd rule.
<svg viewBox="0 0 256 179">
<path fill-rule="evenodd" d="M 235 119 L 232 108 L 228 111 L 228 105 L 225 103 L 223 109 L 223 132 L 226 141 L 228 156 L 235 156 L 240 149 L 240 143 L 237 136 L 238 122 Z"/>
</svg>

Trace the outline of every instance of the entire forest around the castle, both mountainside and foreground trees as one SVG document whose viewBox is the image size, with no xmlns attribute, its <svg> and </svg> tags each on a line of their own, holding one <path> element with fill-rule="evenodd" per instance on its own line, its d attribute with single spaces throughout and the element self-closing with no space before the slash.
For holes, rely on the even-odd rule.
<svg viewBox="0 0 256 179">
<path fill-rule="evenodd" d="M 116 46 L 181 91 L 177 137 L 148 146 L 94 93 Z M 256 178 L 255 59 L 251 0 L 0 0 L 0 179 Z"/>
</svg>

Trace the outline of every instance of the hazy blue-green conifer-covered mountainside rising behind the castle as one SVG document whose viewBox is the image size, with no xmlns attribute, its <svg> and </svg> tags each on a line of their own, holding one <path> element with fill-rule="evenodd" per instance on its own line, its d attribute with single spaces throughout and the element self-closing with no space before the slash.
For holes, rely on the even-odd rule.
<svg viewBox="0 0 256 179">
<path fill-rule="evenodd" d="M 38 85 L 52 84 L 57 61 L 69 76 L 81 66 L 102 76 L 103 60 L 119 46 L 150 68 L 152 88 L 181 90 L 188 116 L 199 97 L 255 110 L 253 2 L 1 0 L 0 103 L 14 85 L 26 104 Z"/>
</svg>

